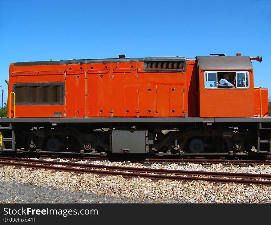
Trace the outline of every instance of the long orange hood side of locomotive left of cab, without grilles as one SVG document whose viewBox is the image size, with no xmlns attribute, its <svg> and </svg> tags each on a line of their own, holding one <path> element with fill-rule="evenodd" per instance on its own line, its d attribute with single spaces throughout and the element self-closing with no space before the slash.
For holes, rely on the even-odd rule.
<svg viewBox="0 0 271 225">
<path fill-rule="evenodd" d="M 184 112 L 189 115 L 187 78 L 194 65 L 189 63 L 186 72 L 163 73 L 137 70 L 143 62 L 11 63 L 9 93 L 14 83 L 65 82 L 65 105 L 17 105 L 16 117 L 55 117 L 54 112 L 62 112 L 60 117 L 184 117 Z"/>
</svg>

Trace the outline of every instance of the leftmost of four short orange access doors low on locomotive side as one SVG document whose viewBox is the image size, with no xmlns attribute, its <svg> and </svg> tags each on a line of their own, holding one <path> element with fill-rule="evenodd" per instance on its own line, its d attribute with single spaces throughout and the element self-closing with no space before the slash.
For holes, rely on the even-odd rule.
<svg viewBox="0 0 271 225">
<path fill-rule="evenodd" d="M 124 116 L 136 117 L 138 113 L 138 86 L 124 86 Z"/>
</svg>

